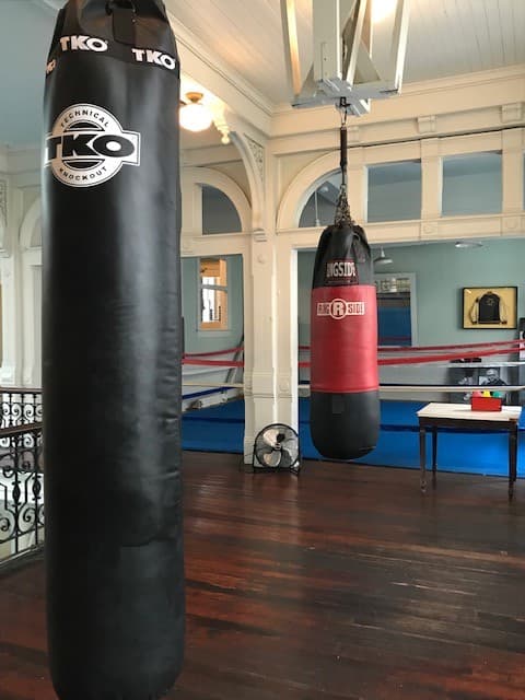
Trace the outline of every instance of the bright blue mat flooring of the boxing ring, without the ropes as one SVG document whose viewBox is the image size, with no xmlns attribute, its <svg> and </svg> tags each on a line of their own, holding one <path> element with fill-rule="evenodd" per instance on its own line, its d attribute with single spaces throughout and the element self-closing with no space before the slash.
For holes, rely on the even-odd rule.
<svg viewBox="0 0 525 700">
<path fill-rule="evenodd" d="M 419 468 L 419 432 L 416 412 L 420 401 L 382 401 L 381 432 L 377 446 L 357 463 L 388 467 Z M 300 399 L 300 443 L 303 457 L 323 459 L 310 436 L 310 401 Z M 525 430 L 522 416 L 520 430 Z M 244 401 L 230 401 L 188 411 L 183 416 L 183 448 L 203 452 L 243 454 Z M 430 458 L 431 438 L 428 436 Z M 506 476 L 509 440 L 506 433 L 458 433 L 440 431 L 438 440 L 439 468 L 490 476 Z M 518 441 L 517 470 L 524 475 L 525 444 Z"/>
</svg>

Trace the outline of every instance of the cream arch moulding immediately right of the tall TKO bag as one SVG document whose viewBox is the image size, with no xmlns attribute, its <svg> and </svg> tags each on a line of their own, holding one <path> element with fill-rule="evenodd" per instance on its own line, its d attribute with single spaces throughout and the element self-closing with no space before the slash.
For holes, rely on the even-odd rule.
<svg viewBox="0 0 525 700">
<path fill-rule="evenodd" d="M 211 167 L 184 167 L 180 172 L 183 188 L 183 231 L 202 233 L 200 187 L 209 185 L 220 189 L 231 200 L 241 219 L 241 230 L 252 230 L 252 208 L 241 187 L 228 175 Z M 199 192 L 196 189 L 199 189 Z"/>
</svg>

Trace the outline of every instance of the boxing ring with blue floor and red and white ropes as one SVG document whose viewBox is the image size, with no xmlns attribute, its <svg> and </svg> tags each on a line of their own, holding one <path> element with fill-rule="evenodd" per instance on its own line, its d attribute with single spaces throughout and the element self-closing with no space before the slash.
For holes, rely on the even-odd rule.
<svg viewBox="0 0 525 700">
<path fill-rule="evenodd" d="M 486 390 L 488 385 L 483 375 L 488 369 L 498 366 L 505 376 L 516 376 L 523 361 L 513 360 L 522 349 L 523 342 L 517 340 L 485 343 L 465 343 L 454 346 L 424 346 L 419 348 L 387 347 L 380 348 L 380 369 L 383 368 L 419 368 L 420 376 L 429 374 L 452 375 L 463 373 L 454 383 L 410 383 L 383 382 L 381 389 L 381 430 L 376 447 L 355 459 L 357 463 L 373 466 L 420 468 L 419 422 L 417 412 L 429 400 L 451 400 L 462 402 L 472 390 Z M 300 348 L 300 369 L 308 369 L 307 348 Z M 206 358 L 195 358 L 207 362 Z M 185 362 L 191 364 L 191 355 Z M 210 358 L 211 361 L 213 359 Z M 458 362 L 460 361 L 460 363 Z M 214 361 L 217 362 L 217 360 Z M 228 361 L 220 361 L 226 363 Z M 213 365 L 212 365 L 213 366 Z M 215 364 L 217 366 L 217 364 Z M 237 360 L 233 365 L 242 366 Z M 470 371 L 472 375 L 469 376 Z M 472 378 L 481 376 L 480 384 L 472 384 Z M 411 375 L 413 377 L 413 374 Z M 464 383 L 464 380 L 467 382 Z M 238 389 L 242 383 L 236 383 Z M 308 384 L 303 378 L 300 384 L 299 399 L 299 435 L 301 453 L 307 459 L 324 459 L 312 444 L 310 435 L 310 400 Z M 508 401 L 517 399 L 524 386 L 506 383 L 491 386 L 504 390 Z M 186 394 L 185 386 L 185 394 Z M 525 431 L 525 417 L 518 423 L 520 435 Z M 205 452 L 226 452 L 243 454 L 244 439 L 244 400 L 209 406 L 202 410 L 190 410 L 183 416 L 183 448 Z M 429 436 L 430 450 L 430 436 Z M 488 476 L 505 477 L 508 475 L 508 438 L 497 431 L 447 432 L 440 433 L 440 470 L 459 471 Z M 518 439 L 517 476 L 525 476 L 525 442 Z"/>
</svg>

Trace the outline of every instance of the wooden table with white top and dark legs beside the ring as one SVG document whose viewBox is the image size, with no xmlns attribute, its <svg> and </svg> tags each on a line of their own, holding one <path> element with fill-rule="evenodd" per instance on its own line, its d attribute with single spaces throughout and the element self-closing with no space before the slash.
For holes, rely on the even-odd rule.
<svg viewBox="0 0 525 700">
<path fill-rule="evenodd" d="M 463 404 L 428 404 L 418 411 L 419 458 L 421 491 L 427 490 L 427 430 L 432 431 L 432 487 L 435 489 L 438 469 L 438 431 L 440 428 L 509 433 L 509 499 L 512 499 L 517 469 L 517 423 L 521 406 L 503 406 L 501 411 L 472 411 Z"/>
</svg>

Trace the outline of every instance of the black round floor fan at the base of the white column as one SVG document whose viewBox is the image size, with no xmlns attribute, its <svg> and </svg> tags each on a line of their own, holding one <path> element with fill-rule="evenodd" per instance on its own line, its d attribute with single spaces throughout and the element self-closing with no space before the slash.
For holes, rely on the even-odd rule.
<svg viewBox="0 0 525 700">
<path fill-rule="evenodd" d="M 284 455 L 287 456 L 283 459 Z M 272 462 L 276 462 L 276 464 L 271 464 Z M 301 450 L 296 431 L 285 423 L 270 423 L 262 428 L 254 441 L 252 468 L 253 471 L 292 471 L 293 474 L 299 474 L 301 469 Z"/>
</svg>

